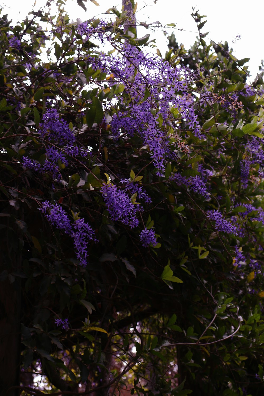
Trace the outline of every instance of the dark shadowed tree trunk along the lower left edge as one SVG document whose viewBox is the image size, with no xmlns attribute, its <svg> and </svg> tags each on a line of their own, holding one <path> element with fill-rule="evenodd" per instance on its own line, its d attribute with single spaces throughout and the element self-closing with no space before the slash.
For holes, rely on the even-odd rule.
<svg viewBox="0 0 264 396">
<path fill-rule="evenodd" d="M 21 213 L 23 219 L 23 213 Z M 20 231 L 13 230 L 8 216 L 1 217 L 0 235 L 0 396 L 20 394 L 21 279 L 12 272 L 21 268 Z M 17 386 L 15 389 L 9 388 Z"/>
</svg>

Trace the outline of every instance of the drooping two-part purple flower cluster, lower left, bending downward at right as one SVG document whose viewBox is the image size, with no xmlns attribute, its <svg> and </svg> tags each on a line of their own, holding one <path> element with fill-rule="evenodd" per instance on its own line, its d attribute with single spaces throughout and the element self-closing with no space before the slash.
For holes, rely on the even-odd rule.
<svg viewBox="0 0 264 396">
<path fill-rule="evenodd" d="M 89 224 L 84 222 L 84 219 L 76 219 L 71 224 L 65 210 L 57 203 L 51 204 L 49 201 L 45 201 L 40 211 L 44 213 L 52 225 L 55 225 L 56 228 L 63 230 L 65 234 L 73 238 L 76 257 L 80 260 L 80 265 L 85 267 L 88 257 L 88 240 L 98 242 L 97 238 L 95 238 L 94 230 Z"/>
</svg>

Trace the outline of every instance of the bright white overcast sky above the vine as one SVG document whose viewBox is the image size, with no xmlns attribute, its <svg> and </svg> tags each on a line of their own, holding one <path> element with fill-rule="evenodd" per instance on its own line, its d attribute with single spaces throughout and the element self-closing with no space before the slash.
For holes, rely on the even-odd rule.
<svg viewBox="0 0 264 396">
<path fill-rule="evenodd" d="M 82 21 L 90 19 L 94 15 L 103 13 L 112 6 L 118 6 L 121 9 L 122 0 L 97 0 L 100 6 L 95 6 L 87 0 L 84 4 L 87 12 L 77 5 L 76 0 L 66 1 L 66 10 L 70 19 L 76 21 L 79 17 Z M 27 13 L 32 9 L 34 0 L 0 0 L 0 4 L 4 7 L 4 13 L 8 13 L 13 19 L 13 24 L 18 19 L 24 19 Z M 34 9 L 40 8 L 46 4 L 46 0 L 36 0 Z M 250 80 L 254 80 L 256 73 L 259 71 L 261 59 L 264 58 L 264 1 L 251 0 L 222 0 L 221 2 L 213 0 L 157 0 L 154 4 L 153 0 L 138 0 L 137 19 L 139 21 L 155 22 L 160 21 L 162 24 L 175 23 L 179 29 L 191 30 L 193 32 L 175 30 L 175 36 L 179 43 L 183 43 L 188 49 L 194 44 L 197 29 L 196 23 L 190 16 L 192 6 L 199 9 L 201 15 L 207 15 L 207 23 L 203 28 L 203 32 L 210 30 L 208 38 L 215 42 L 228 41 L 230 47 L 234 48 L 234 55 L 238 59 L 251 58 L 249 61 L 249 70 L 252 74 Z M 171 32 L 171 28 L 168 29 Z M 156 38 L 156 44 L 164 55 L 166 48 L 166 40 L 161 30 L 152 33 L 150 30 L 138 30 L 138 36 L 144 36 L 150 33 L 151 38 Z M 241 35 L 241 39 L 232 43 L 237 34 Z"/>
</svg>

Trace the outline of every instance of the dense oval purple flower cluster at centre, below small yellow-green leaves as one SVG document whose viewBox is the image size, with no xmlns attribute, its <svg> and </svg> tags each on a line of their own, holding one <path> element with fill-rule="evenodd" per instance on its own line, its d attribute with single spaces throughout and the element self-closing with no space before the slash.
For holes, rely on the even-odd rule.
<svg viewBox="0 0 264 396">
<path fill-rule="evenodd" d="M 139 225 L 137 212 L 140 207 L 137 204 L 133 204 L 124 191 L 118 189 L 116 185 L 109 183 L 103 185 L 101 192 L 103 193 L 106 208 L 113 221 L 120 220 L 123 224 L 129 225 L 131 228 Z"/>
</svg>

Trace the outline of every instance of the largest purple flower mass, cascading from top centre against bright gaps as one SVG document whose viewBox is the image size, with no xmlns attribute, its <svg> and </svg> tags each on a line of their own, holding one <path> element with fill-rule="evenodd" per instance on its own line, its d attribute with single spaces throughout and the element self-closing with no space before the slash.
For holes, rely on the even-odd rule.
<svg viewBox="0 0 264 396">
<path fill-rule="evenodd" d="M 160 57 L 145 54 L 130 45 L 121 46 L 119 55 L 101 54 L 100 57 L 91 56 L 87 61 L 102 72 L 111 72 L 113 81 L 109 80 L 109 86 L 129 82 L 127 92 L 131 101 L 127 104 L 125 96 L 119 98 L 122 112 L 112 118 L 112 133 L 116 137 L 138 134 L 149 148 L 156 173 L 163 175 L 166 157 L 171 156 L 172 143 L 171 136 L 162 125 L 178 129 L 179 122 L 179 118 L 177 122 L 171 120 L 171 109 L 178 112 L 186 129 L 196 136 L 200 133 L 194 103 L 187 91 L 190 76 L 185 79 L 180 67 L 172 67 Z M 178 141 L 176 143 L 178 149 L 182 149 L 182 145 Z"/>
</svg>

